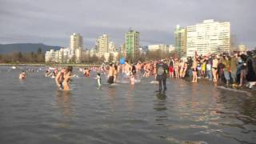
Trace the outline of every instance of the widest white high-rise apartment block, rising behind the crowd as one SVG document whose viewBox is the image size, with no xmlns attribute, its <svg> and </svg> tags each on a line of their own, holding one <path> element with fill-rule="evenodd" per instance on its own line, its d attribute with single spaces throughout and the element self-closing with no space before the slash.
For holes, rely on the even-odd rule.
<svg viewBox="0 0 256 144">
<path fill-rule="evenodd" d="M 205 20 L 195 26 L 187 26 L 186 56 L 230 53 L 230 22 Z"/>
</svg>

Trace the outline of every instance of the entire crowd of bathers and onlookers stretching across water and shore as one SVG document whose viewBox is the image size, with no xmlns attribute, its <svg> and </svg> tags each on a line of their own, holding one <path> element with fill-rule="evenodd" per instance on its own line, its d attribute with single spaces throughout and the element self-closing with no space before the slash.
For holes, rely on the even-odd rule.
<svg viewBox="0 0 256 144">
<path fill-rule="evenodd" d="M 208 54 L 197 55 L 194 58 L 166 58 L 158 61 L 117 62 L 102 64 L 102 66 L 90 66 L 78 68 L 78 71 L 85 77 L 90 77 L 90 71 L 96 72 L 98 86 L 102 86 L 102 74 L 106 75 L 109 84 L 121 82 L 121 78 L 134 85 L 142 77 L 154 77 L 159 83 L 159 90 L 166 90 L 166 78 L 191 78 L 192 82 L 198 79 L 208 79 L 212 82 L 223 82 L 232 86 L 247 86 L 252 88 L 256 83 L 256 52 L 234 54 Z M 70 90 L 70 78 L 72 66 L 64 67 L 61 70 L 53 68 L 46 70 L 46 77 L 55 78 L 59 89 Z M 19 76 L 26 78 L 26 73 L 22 71 Z"/>
</svg>

